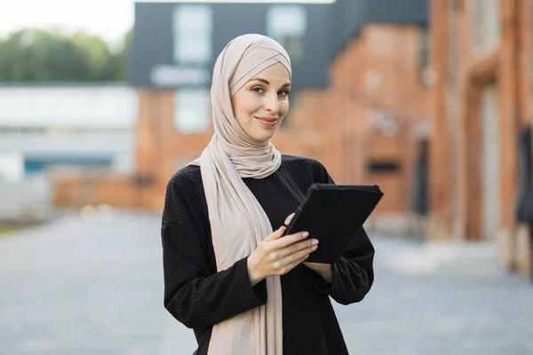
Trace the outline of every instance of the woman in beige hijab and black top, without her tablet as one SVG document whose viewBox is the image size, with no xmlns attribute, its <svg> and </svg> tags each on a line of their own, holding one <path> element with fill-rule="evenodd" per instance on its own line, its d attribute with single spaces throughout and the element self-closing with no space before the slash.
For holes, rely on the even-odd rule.
<svg viewBox="0 0 533 355">
<path fill-rule="evenodd" d="M 363 230 L 332 265 L 305 263 L 320 248 L 305 231 L 281 238 L 307 188 L 333 183 L 320 162 L 270 142 L 289 109 L 290 77 L 271 38 L 228 43 L 211 86 L 215 134 L 167 187 L 164 306 L 194 328 L 199 355 L 346 354 L 329 296 L 359 302 L 374 279 Z"/>
</svg>

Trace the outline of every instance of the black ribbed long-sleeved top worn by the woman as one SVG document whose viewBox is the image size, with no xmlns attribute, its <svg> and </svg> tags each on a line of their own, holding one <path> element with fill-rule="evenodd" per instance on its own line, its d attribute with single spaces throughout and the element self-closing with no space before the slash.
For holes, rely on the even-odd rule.
<svg viewBox="0 0 533 355">
<path fill-rule="evenodd" d="M 281 167 L 271 176 L 243 181 L 273 230 L 298 208 L 310 185 L 333 183 L 320 162 L 290 155 L 282 156 Z M 363 229 L 358 234 L 333 264 L 331 284 L 303 264 L 282 275 L 283 354 L 348 353 L 330 296 L 339 304 L 352 304 L 370 290 L 374 248 Z M 179 322 L 194 328 L 197 354 L 207 354 L 214 324 L 267 303 L 266 282 L 251 287 L 246 257 L 217 272 L 199 167 L 187 166 L 171 177 L 162 236 L 164 306 Z"/>
</svg>

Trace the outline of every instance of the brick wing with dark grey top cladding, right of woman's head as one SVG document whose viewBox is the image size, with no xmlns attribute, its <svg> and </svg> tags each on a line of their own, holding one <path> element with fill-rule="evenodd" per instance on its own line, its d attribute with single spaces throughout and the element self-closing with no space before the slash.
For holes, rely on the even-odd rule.
<svg viewBox="0 0 533 355">
<path fill-rule="evenodd" d="M 338 183 L 375 183 L 386 192 L 372 227 L 412 234 L 412 216 L 426 214 L 424 147 L 432 80 L 427 2 L 338 1 L 333 6 L 338 46 L 330 61 L 330 84 L 325 93 L 310 93 L 305 106 L 313 115 L 321 101 L 329 102 L 316 116 L 326 132 L 317 156 Z M 330 120 L 321 120 L 324 116 Z"/>
</svg>

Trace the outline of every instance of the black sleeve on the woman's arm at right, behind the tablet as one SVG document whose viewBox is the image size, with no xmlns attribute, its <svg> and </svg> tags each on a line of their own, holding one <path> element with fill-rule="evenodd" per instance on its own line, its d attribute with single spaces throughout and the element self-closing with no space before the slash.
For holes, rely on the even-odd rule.
<svg viewBox="0 0 533 355">
<path fill-rule="evenodd" d="M 334 184 L 320 162 L 314 162 L 313 176 L 316 183 Z M 331 265 L 333 271 L 331 283 L 323 280 L 317 272 L 308 270 L 314 288 L 330 295 L 339 304 L 362 301 L 374 282 L 374 247 L 364 228 L 356 233 L 345 254 Z"/>
</svg>

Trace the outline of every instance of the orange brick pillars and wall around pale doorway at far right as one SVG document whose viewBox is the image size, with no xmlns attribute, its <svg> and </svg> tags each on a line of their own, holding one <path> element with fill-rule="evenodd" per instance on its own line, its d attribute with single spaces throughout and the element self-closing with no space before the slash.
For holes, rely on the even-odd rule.
<svg viewBox="0 0 533 355">
<path fill-rule="evenodd" d="M 454 5 L 455 4 L 455 5 Z M 513 203 L 517 193 L 516 135 L 530 115 L 530 9 L 526 1 L 499 1 L 501 33 L 486 51 L 472 49 L 472 9 L 464 0 L 431 4 L 432 63 L 436 82 L 431 136 L 432 238 L 480 240 L 483 204 L 481 93 L 497 88 L 499 142 L 497 239 L 505 264 L 513 267 L 517 225 Z M 452 17 L 455 14 L 455 17 Z M 457 28 L 457 30 L 454 30 Z M 523 233 L 522 233 L 523 234 Z M 523 260 L 519 262 L 523 264 Z"/>
</svg>

